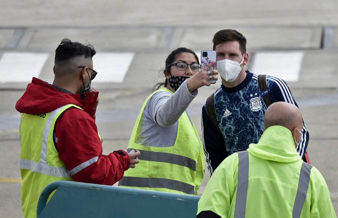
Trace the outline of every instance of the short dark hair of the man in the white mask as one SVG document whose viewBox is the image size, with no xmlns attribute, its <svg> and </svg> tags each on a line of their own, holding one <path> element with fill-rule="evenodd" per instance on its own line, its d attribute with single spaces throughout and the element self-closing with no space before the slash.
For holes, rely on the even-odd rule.
<svg viewBox="0 0 338 218">
<path fill-rule="evenodd" d="M 244 35 L 242 35 L 242 33 L 238 32 L 237 30 L 231 29 L 220 30 L 217 33 L 215 33 L 213 38 L 214 43 L 213 49 L 215 50 L 218 44 L 229 41 L 237 41 L 240 44 L 240 50 L 242 54 L 245 54 L 246 38 L 244 37 Z"/>
</svg>

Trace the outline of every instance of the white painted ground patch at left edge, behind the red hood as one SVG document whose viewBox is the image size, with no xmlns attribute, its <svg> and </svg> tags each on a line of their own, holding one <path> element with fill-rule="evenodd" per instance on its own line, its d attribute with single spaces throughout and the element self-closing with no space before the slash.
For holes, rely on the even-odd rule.
<svg viewBox="0 0 338 218">
<path fill-rule="evenodd" d="M 5 52 L 0 60 L 1 83 L 31 82 L 43 69 L 49 53 Z"/>
</svg>

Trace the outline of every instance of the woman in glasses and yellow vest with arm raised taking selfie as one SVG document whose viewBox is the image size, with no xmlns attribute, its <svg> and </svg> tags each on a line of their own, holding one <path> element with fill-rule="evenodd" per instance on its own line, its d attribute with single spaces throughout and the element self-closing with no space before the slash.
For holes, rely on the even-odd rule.
<svg viewBox="0 0 338 218">
<path fill-rule="evenodd" d="M 140 162 L 124 172 L 119 186 L 197 195 L 205 158 L 186 109 L 198 88 L 217 80 L 217 70 L 209 71 L 214 64 L 200 69 L 198 56 L 187 48 L 168 55 L 165 81 L 145 100 L 129 141 L 128 151 L 139 150 Z"/>
</svg>

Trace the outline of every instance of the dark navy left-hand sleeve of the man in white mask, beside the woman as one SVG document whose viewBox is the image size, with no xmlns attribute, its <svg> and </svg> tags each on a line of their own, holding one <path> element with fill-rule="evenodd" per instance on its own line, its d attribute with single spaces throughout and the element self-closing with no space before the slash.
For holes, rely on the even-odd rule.
<svg viewBox="0 0 338 218">
<path fill-rule="evenodd" d="M 211 174 L 228 156 L 223 137 L 210 121 L 205 104 L 202 107 L 202 134 L 207 167 Z"/>
</svg>

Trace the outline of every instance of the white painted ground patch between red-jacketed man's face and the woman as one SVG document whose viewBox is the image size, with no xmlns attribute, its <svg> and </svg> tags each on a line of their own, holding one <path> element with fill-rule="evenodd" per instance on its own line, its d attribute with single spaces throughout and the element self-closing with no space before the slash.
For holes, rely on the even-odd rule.
<svg viewBox="0 0 338 218">
<path fill-rule="evenodd" d="M 97 53 L 93 56 L 94 70 L 98 73 L 94 82 L 122 83 L 134 53 Z"/>
</svg>

